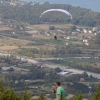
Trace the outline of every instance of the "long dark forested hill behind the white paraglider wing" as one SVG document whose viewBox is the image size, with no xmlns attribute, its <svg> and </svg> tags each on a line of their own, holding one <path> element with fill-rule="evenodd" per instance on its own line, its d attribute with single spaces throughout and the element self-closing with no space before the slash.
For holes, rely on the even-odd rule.
<svg viewBox="0 0 100 100">
<path fill-rule="evenodd" d="M 45 14 L 40 20 L 40 15 L 47 9 L 65 9 L 69 11 L 73 20 L 61 12 L 51 12 Z M 67 4 L 31 4 L 27 3 L 23 6 L 7 6 L 0 4 L 0 15 L 3 19 L 14 19 L 29 24 L 41 24 L 43 22 L 53 23 L 72 23 L 75 25 L 86 26 L 99 26 L 100 25 L 100 13 L 93 12 L 89 9 L 73 7 Z"/>
</svg>

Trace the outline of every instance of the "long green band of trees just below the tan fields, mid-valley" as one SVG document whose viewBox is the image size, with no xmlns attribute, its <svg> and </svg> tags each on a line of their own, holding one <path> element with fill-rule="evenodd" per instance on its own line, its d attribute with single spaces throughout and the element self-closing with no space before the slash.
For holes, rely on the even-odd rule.
<svg viewBox="0 0 100 100">
<path fill-rule="evenodd" d="M 45 50 L 45 49 L 36 49 L 36 48 L 22 48 L 19 52 L 21 55 L 34 57 L 34 54 L 38 54 L 40 56 L 47 55 L 47 56 L 55 56 L 55 55 L 66 55 L 66 54 L 81 54 L 81 50 L 78 48 L 67 48 L 67 47 L 60 47 L 56 48 L 56 50 Z"/>
</svg>

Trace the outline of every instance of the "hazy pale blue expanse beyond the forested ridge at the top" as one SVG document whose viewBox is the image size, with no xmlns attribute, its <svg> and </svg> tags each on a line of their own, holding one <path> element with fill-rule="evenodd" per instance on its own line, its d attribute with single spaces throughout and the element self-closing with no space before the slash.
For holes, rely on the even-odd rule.
<svg viewBox="0 0 100 100">
<path fill-rule="evenodd" d="M 100 12 L 100 0 L 62 0 L 62 1 L 58 1 L 58 0 L 22 0 L 22 1 L 33 1 L 33 2 L 39 2 L 39 3 L 44 3 L 46 1 L 48 1 L 49 3 L 57 3 L 57 4 L 70 4 L 72 6 L 80 6 L 82 8 L 87 8 L 87 9 L 91 9 L 93 11 L 97 11 Z"/>
</svg>

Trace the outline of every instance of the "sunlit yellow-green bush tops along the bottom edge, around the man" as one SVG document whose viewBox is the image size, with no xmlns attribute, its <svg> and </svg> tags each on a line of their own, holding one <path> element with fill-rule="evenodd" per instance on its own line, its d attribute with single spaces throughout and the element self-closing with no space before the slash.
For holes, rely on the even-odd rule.
<svg viewBox="0 0 100 100">
<path fill-rule="evenodd" d="M 4 87 L 0 83 L 0 100 L 32 100 L 29 92 L 25 91 L 23 96 L 15 93 L 11 87 Z M 46 100 L 41 94 L 38 100 Z M 83 100 L 82 94 L 76 94 L 72 100 Z M 97 89 L 91 100 L 100 100 L 100 89 Z"/>
</svg>

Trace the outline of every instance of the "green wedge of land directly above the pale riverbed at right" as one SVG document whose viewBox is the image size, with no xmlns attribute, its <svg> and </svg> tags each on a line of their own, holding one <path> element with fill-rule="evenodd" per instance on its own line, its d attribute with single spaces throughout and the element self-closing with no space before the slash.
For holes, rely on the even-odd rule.
<svg viewBox="0 0 100 100">
<path fill-rule="evenodd" d="M 58 59 L 58 60 L 49 60 L 49 61 L 55 64 L 64 65 L 64 66 L 67 65 L 69 66 L 69 68 L 77 68 L 81 70 L 100 73 L 99 65 L 97 65 L 99 63 L 99 58 L 95 59 L 95 58 L 90 57 L 90 58 L 84 59 L 82 57 L 74 58 L 75 56 L 77 57 L 78 55 L 66 55 L 66 56 L 65 56 L 66 58 L 63 60 Z M 83 56 L 83 55 L 80 55 L 80 56 Z"/>
</svg>

